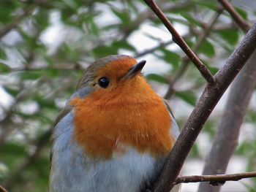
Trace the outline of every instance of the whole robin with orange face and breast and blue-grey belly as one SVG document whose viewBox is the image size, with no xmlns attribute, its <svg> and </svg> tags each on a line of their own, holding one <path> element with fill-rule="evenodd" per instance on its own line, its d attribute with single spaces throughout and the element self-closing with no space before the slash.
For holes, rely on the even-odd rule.
<svg viewBox="0 0 256 192">
<path fill-rule="evenodd" d="M 109 55 L 83 72 L 53 123 L 50 192 L 151 191 L 179 130 L 145 64 Z"/>
</svg>

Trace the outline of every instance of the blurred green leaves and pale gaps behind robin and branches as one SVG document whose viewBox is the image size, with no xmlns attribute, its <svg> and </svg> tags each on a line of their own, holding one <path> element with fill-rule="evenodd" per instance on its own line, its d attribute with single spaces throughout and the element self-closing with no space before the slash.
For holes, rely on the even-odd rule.
<svg viewBox="0 0 256 192">
<path fill-rule="evenodd" d="M 231 1 L 248 23 L 256 1 Z M 157 1 L 212 74 L 244 32 L 218 1 Z M 48 191 L 50 129 L 91 62 L 111 54 L 145 59 L 148 82 L 170 99 L 180 128 L 206 85 L 170 33 L 143 1 L 0 1 L 0 184 L 10 191 Z M 227 91 L 228 92 L 228 91 Z M 227 93 L 184 164 L 202 174 Z M 256 94 L 252 94 L 227 173 L 256 169 Z M 197 191 L 197 183 L 182 191 Z M 256 191 L 256 180 L 227 182 L 221 191 Z"/>
</svg>

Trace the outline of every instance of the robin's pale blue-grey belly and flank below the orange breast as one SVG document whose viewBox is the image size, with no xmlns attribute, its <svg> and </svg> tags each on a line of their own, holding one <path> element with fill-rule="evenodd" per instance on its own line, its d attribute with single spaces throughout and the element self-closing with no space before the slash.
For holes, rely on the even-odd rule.
<svg viewBox="0 0 256 192">
<path fill-rule="evenodd" d="M 162 168 L 165 156 L 142 153 L 135 147 L 121 145 L 122 142 L 108 158 L 92 156 L 72 137 L 73 120 L 74 115 L 69 113 L 54 130 L 50 192 L 140 191 Z M 94 139 L 97 142 L 97 137 Z M 101 147 L 108 149 L 104 143 L 99 151 Z"/>
</svg>

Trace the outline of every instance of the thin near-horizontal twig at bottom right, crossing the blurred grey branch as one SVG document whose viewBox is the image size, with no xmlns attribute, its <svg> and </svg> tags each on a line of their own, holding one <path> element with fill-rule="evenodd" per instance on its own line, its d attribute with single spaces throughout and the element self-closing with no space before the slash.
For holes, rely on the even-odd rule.
<svg viewBox="0 0 256 192">
<path fill-rule="evenodd" d="M 211 185 L 219 185 L 224 184 L 226 181 L 237 181 L 249 177 L 256 177 L 256 172 L 178 176 L 174 184 L 176 185 L 178 183 L 210 182 Z"/>
</svg>

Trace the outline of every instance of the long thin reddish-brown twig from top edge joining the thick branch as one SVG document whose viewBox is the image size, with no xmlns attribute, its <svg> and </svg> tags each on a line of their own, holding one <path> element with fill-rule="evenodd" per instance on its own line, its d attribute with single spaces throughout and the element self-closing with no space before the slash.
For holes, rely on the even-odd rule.
<svg viewBox="0 0 256 192">
<path fill-rule="evenodd" d="M 181 49 L 184 51 L 184 53 L 187 54 L 187 56 L 191 59 L 191 61 L 195 64 L 197 69 L 200 71 L 202 76 L 206 79 L 206 81 L 213 85 L 215 82 L 214 76 L 211 74 L 211 72 L 207 69 L 207 67 L 200 61 L 199 58 L 197 58 L 197 55 L 189 48 L 187 43 L 182 39 L 182 37 L 178 34 L 176 29 L 173 27 L 173 25 L 170 23 L 170 21 L 167 19 L 165 14 L 162 12 L 161 9 L 157 6 L 157 4 L 154 2 L 154 0 L 144 0 L 146 4 L 148 4 L 148 7 L 150 7 L 154 13 L 158 16 L 160 20 L 162 20 L 162 23 L 164 23 L 165 27 L 170 31 L 170 33 L 173 35 L 173 41 L 176 42 L 176 44 L 181 47 Z"/>
</svg>

